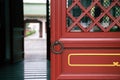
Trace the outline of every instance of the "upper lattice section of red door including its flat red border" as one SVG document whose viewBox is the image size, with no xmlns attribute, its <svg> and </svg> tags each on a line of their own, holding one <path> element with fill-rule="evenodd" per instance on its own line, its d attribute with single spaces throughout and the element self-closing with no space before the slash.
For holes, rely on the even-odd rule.
<svg viewBox="0 0 120 80">
<path fill-rule="evenodd" d="M 69 7 L 66 7 L 66 4 L 69 5 L 70 1 L 72 4 Z M 78 37 L 82 37 L 82 38 L 114 37 L 115 38 L 115 37 L 119 37 L 119 35 L 120 35 L 120 33 L 119 33 L 119 31 L 120 31 L 120 29 L 119 29 L 120 14 L 118 13 L 119 10 L 114 9 L 114 8 L 119 7 L 119 5 L 118 5 L 119 1 L 112 2 L 111 0 L 107 0 L 107 2 L 111 1 L 111 5 L 110 5 L 110 3 L 104 3 L 105 0 L 92 1 L 91 5 L 87 9 L 83 7 L 82 1 L 89 3 L 89 1 L 91 1 L 91 0 L 89 0 L 89 1 L 87 1 L 87 0 L 76 0 L 76 1 L 63 0 L 62 1 L 62 4 L 61 4 L 62 10 L 60 12 L 62 13 L 61 23 L 62 23 L 62 34 L 63 34 L 62 36 L 63 37 L 68 37 L 68 38 L 78 38 Z M 85 3 L 85 4 L 87 4 L 87 3 Z M 103 6 L 103 4 L 109 4 L 108 5 L 109 7 L 107 7 L 109 9 L 107 10 L 107 8 L 105 8 L 105 6 Z M 78 7 L 75 8 L 76 5 L 80 9 Z M 94 16 L 96 14 L 95 9 L 94 9 L 96 7 L 96 5 L 98 5 L 98 8 L 100 8 L 100 10 L 101 10 L 101 14 L 98 17 Z M 60 7 L 58 7 L 58 9 L 60 10 Z M 81 10 L 80 16 L 75 17 L 74 15 L 76 13 L 79 13 L 79 10 Z M 117 11 L 117 13 L 115 13 L 114 11 Z M 116 15 L 113 16 L 113 13 Z M 87 18 L 86 18 L 86 16 L 87 16 Z M 103 19 L 103 18 L 105 18 L 105 19 Z M 106 20 L 106 18 L 108 18 L 108 20 Z M 106 27 L 104 24 L 107 24 L 107 21 L 109 21 L 109 24 Z M 118 23 L 116 23 L 115 21 Z M 96 28 L 96 27 L 98 27 L 98 28 Z M 118 27 L 118 28 L 116 28 L 116 30 L 114 30 L 114 27 Z M 101 29 L 101 31 L 99 31 L 99 29 Z"/>
</svg>

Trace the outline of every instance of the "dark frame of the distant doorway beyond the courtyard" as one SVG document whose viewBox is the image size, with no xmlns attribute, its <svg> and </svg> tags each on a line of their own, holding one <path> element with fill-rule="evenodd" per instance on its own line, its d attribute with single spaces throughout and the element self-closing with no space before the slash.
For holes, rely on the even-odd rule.
<svg viewBox="0 0 120 80">
<path fill-rule="evenodd" d="M 42 23 L 42 21 L 39 21 L 39 20 L 37 20 L 37 19 L 26 19 L 26 20 L 24 20 L 24 34 L 25 34 L 25 24 L 26 23 L 39 23 L 39 37 L 40 38 L 42 38 L 42 28 L 43 28 L 43 23 Z"/>
</svg>

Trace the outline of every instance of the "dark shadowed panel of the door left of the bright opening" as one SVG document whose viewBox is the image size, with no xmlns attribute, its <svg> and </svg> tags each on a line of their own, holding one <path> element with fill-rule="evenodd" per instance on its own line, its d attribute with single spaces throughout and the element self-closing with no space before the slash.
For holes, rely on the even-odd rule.
<svg viewBox="0 0 120 80">
<path fill-rule="evenodd" d="M 12 62 L 18 62 L 23 60 L 24 58 L 24 51 L 23 51 L 23 28 L 14 28 L 13 31 L 13 55 L 12 55 Z"/>
</svg>

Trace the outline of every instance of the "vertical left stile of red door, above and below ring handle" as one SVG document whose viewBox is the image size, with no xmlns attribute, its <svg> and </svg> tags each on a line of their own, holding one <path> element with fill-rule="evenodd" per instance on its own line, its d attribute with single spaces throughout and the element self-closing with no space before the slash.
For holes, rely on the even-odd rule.
<svg viewBox="0 0 120 80">
<path fill-rule="evenodd" d="M 51 5 L 51 44 L 54 43 L 56 40 L 60 41 L 61 38 L 61 1 L 60 0 L 53 0 L 51 1 L 53 5 Z M 51 66 L 52 76 L 51 80 L 54 80 L 57 76 L 61 74 L 61 54 L 55 54 L 51 52 Z M 54 62 L 54 63 L 53 63 Z"/>
</svg>

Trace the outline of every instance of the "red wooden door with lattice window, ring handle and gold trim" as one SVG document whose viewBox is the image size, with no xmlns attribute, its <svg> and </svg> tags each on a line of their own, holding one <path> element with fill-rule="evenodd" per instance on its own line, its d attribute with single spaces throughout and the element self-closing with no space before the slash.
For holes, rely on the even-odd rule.
<svg viewBox="0 0 120 80">
<path fill-rule="evenodd" d="M 120 0 L 51 0 L 51 80 L 120 80 Z"/>
</svg>

